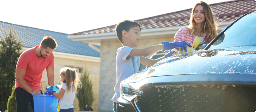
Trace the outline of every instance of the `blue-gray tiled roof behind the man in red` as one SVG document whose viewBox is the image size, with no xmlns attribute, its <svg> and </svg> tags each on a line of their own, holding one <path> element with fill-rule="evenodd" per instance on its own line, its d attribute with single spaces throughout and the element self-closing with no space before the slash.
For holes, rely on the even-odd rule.
<svg viewBox="0 0 256 112">
<path fill-rule="evenodd" d="M 35 47 L 36 45 L 40 44 L 44 36 L 52 36 L 58 44 L 58 47 L 54 50 L 55 52 L 100 57 L 100 53 L 90 48 L 88 44 L 74 42 L 73 40 L 68 39 L 68 34 L 65 33 L 21 26 L 0 21 L 0 36 L 3 37 L 5 33 L 9 35 L 11 28 L 13 29 L 12 32 L 16 32 L 16 36 L 23 40 L 23 47 Z M 94 46 L 100 49 L 100 46 Z"/>
</svg>

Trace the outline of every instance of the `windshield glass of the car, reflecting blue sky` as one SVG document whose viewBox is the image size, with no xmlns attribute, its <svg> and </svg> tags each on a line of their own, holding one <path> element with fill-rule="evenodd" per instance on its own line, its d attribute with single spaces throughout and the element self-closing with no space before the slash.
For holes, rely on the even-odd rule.
<svg viewBox="0 0 256 112">
<path fill-rule="evenodd" d="M 228 28 L 210 49 L 220 49 L 256 44 L 256 12 L 252 12 Z"/>
</svg>

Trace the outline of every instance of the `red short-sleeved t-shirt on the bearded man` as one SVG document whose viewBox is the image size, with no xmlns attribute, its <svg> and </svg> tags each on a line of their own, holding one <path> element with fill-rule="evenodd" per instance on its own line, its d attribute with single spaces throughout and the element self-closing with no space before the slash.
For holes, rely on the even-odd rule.
<svg viewBox="0 0 256 112">
<path fill-rule="evenodd" d="M 37 45 L 36 47 L 38 47 Z M 28 86 L 33 90 L 41 89 L 41 79 L 44 69 L 49 66 L 54 66 L 53 53 L 45 59 L 36 55 L 36 47 L 24 51 L 17 62 L 16 68 L 25 69 L 26 73 L 23 79 L 28 83 Z M 17 81 L 15 81 L 15 89 L 22 88 Z"/>
</svg>

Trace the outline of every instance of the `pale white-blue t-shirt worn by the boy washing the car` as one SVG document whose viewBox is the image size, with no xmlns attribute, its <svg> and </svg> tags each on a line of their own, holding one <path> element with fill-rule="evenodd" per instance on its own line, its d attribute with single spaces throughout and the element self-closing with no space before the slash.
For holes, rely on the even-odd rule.
<svg viewBox="0 0 256 112">
<path fill-rule="evenodd" d="M 117 99 L 120 97 L 120 83 L 137 73 L 140 68 L 140 56 L 132 56 L 128 60 L 126 57 L 130 54 L 133 48 L 128 46 L 123 46 L 117 49 L 116 52 L 116 85 L 115 85 L 115 95 L 112 101 L 117 103 Z"/>
</svg>

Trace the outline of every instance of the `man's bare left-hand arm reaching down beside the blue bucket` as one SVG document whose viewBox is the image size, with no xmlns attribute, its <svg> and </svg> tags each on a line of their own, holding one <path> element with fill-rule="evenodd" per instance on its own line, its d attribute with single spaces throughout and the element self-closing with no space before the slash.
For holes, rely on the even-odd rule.
<svg viewBox="0 0 256 112">
<path fill-rule="evenodd" d="M 31 87 L 29 87 L 28 83 L 23 78 L 25 76 L 25 73 L 25 69 L 16 68 L 16 81 L 24 90 L 26 90 L 30 94 L 40 94 L 41 91 L 39 89 L 34 91 Z"/>
</svg>

